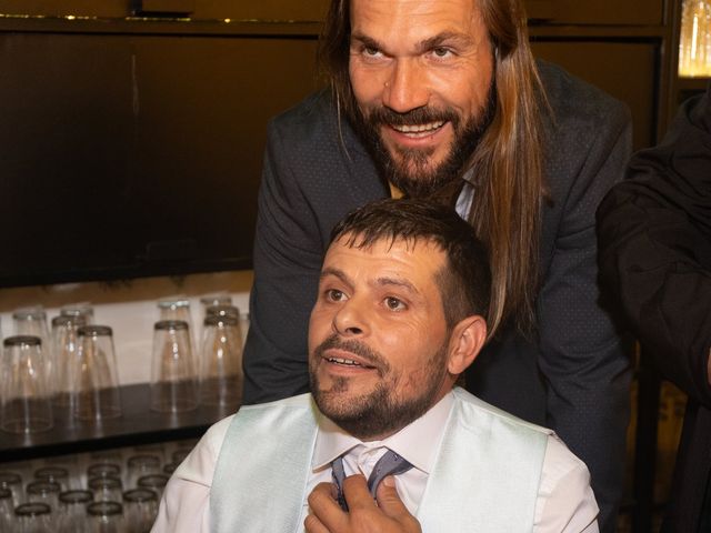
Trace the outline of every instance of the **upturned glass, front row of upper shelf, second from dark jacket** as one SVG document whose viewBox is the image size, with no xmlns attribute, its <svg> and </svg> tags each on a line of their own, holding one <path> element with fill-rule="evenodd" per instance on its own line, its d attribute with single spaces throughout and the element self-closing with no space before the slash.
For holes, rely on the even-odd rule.
<svg viewBox="0 0 711 533">
<path fill-rule="evenodd" d="M 182 320 L 161 320 L 153 328 L 151 409 L 180 413 L 197 406 L 198 379 L 188 323 Z"/>
</svg>

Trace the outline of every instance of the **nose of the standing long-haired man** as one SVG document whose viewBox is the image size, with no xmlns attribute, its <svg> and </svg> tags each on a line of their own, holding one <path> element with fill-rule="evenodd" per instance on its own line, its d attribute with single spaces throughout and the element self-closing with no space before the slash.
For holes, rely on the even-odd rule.
<svg viewBox="0 0 711 533">
<path fill-rule="evenodd" d="M 383 88 L 383 104 L 399 113 L 427 105 L 430 100 L 427 76 L 418 58 L 398 59 Z"/>
</svg>

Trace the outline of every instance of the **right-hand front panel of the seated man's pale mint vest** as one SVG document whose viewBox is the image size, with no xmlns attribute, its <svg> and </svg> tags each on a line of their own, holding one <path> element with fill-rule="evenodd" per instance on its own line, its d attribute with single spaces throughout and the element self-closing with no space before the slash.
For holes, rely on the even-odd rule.
<svg viewBox="0 0 711 533">
<path fill-rule="evenodd" d="M 547 439 L 455 394 L 417 513 L 422 531 L 531 531 Z"/>
</svg>

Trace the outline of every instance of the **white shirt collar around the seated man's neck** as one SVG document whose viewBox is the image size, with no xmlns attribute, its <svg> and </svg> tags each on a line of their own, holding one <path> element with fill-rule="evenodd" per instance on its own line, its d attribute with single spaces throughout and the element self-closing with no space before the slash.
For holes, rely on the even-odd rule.
<svg viewBox="0 0 711 533">
<path fill-rule="evenodd" d="M 434 466 L 437 451 L 444 433 L 444 425 L 452 409 L 452 403 L 453 395 L 452 391 L 450 391 L 422 416 L 382 441 L 362 442 L 321 415 L 319 416 L 319 430 L 316 438 L 313 457 L 311 459 L 311 467 L 313 471 L 322 470 L 330 465 L 336 457 L 358 445 L 367 447 L 384 446 L 407 459 L 417 469 L 429 474 Z"/>
</svg>

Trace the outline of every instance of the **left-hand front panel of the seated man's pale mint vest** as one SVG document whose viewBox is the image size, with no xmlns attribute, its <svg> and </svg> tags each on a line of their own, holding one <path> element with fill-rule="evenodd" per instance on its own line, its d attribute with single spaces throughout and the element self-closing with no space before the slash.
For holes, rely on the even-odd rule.
<svg viewBox="0 0 711 533">
<path fill-rule="evenodd" d="M 210 494 L 214 533 L 302 531 L 299 523 L 316 443 L 310 395 L 242 408 L 224 438 Z"/>
</svg>

